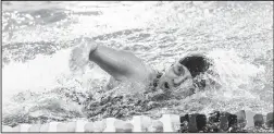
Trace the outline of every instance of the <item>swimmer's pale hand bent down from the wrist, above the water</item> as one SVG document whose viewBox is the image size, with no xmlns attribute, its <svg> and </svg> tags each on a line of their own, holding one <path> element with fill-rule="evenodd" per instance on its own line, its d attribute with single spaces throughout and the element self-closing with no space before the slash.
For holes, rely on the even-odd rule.
<svg viewBox="0 0 274 134">
<path fill-rule="evenodd" d="M 98 45 L 91 39 L 85 37 L 82 37 L 76 41 L 78 41 L 79 45 L 72 49 L 68 66 L 73 73 L 84 74 L 85 69 L 89 63 L 89 53 L 96 50 Z"/>
</svg>

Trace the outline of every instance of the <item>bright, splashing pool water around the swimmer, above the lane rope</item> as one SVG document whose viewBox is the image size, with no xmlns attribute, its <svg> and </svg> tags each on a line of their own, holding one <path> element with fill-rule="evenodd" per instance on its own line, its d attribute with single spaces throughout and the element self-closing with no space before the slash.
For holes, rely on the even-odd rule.
<svg viewBox="0 0 274 134">
<path fill-rule="evenodd" d="M 139 99 L 102 90 L 109 75 L 90 63 L 68 69 L 80 36 L 130 50 L 155 70 L 207 52 L 221 89 L 184 99 Z M 273 2 L 2 2 L 3 123 L 162 112 L 273 110 Z M 163 110 L 164 109 L 164 110 Z"/>
</svg>

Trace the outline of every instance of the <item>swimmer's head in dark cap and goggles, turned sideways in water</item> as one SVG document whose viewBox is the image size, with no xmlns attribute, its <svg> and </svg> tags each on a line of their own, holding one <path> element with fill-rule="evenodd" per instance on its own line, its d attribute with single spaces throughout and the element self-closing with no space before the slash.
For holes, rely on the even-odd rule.
<svg viewBox="0 0 274 134">
<path fill-rule="evenodd" d="M 187 85 L 194 85 L 194 77 L 205 72 L 210 65 L 209 60 L 204 56 L 188 54 L 176 61 L 165 71 L 159 80 L 158 86 L 163 90 L 172 92 L 187 82 Z"/>
</svg>

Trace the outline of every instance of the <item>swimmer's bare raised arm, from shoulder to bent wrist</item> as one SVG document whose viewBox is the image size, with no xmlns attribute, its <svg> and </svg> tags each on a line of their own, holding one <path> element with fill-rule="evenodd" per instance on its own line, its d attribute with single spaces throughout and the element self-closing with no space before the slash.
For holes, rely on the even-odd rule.
<svg viewBox="0 0 274 134">
<path fill-rule="evenodd" d="M 115 80 L 122 81 L 126 77 L 127 80 L 146 81 L 153 73 L 150 66 L 147 66 L 132 52 L 115 50 L 92 40 L 86 40 L 88 41 L 84 41 L 75 48 L 73 53 L 83 57 L 85 62 L 86 60 L 94 61 Z M 84 61 L 77 62 L 85 65 Z"/>
</svg>

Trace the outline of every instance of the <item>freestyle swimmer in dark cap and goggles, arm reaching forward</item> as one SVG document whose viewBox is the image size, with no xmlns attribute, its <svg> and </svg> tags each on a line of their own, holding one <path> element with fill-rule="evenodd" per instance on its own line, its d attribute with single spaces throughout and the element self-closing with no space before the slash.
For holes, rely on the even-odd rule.
<svg viewBox="0 0 274 134">
<path fill-rule="evenodd" d="M 82 69 L 88 61 L 92 61 L 108 72 L 111 75 L 109 88 L 129 81 L 145 87 L 160 88 L 166 93 L 175 90 L 187 81 L 194 85 L 194 77 L 205 72 L 210 65 L 204 56 L 190 54 L 176 61 L 164 73 L 161 73 L 129 51 L 116 50 L 89 38 L 84 38 L 80 45 L 72 50 L 71 58 L 71 69 Z M 200 86 L 204 85 L 200 83 Z M 190 87 L 189 90 L 191 88 L 195 87 Z"/>
</svg>

